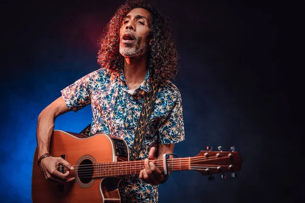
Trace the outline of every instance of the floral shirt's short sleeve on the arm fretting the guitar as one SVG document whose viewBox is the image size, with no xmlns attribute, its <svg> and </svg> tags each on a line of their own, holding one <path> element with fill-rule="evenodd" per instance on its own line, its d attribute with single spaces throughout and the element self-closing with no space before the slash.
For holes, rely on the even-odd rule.
<svg viewBox="0 0 305 203">
<path fill-rule="evenodd" d="M 176 99 L 167 116 L 162 119 L 159 128 L 159 143 L 173 144 L 185 140 L 184 119 L 182 116 L 181 95 L 176 94 Z"/>
</svg>

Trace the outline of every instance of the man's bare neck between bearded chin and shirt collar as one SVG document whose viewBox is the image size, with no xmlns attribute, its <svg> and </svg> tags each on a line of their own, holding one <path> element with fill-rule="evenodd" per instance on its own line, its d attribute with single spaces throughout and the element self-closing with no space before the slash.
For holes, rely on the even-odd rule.
<svg viewBox="0 0 305 203">
<path fill-rule="evenodd" d="M 124 76 L 129 89 L 137 89 L 147 73 L 146 54 L 138 57 L 125 57 Z"/>
</svg>

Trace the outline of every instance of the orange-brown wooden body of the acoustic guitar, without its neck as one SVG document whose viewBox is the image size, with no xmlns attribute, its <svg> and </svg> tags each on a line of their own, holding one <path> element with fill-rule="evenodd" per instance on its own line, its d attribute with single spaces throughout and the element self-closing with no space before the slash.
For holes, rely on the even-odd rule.
<svg viewBox="0 0 305 203">
<path fill-rule="evenodd" d="M 72 183 L 59 185 L 47 181 L 37 164 L 37 149 L 34 155 L 32 174 L 33 202 L 120 202 L 118 184 L 121 177 L 92 178 L 93 163 L 128 161 L 128 146 L 124 140 L 106 134 L 86 138 L 81 134 L 54 130 L 49 153 L 62 157 L 75 167 L 70 177 Z M 86 176 L 83 176 L 84 169 Z M 81 170 L 79 170 L 81 169 Z M 65 173 L 64 167 L 58 168 Z"/>
</svg>

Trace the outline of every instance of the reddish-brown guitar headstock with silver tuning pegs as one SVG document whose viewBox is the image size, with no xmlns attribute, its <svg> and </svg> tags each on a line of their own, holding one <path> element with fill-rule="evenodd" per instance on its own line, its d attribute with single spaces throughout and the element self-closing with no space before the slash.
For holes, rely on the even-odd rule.
<svg viewBox="0 0 305 203">
<path fill-rule="evenodd" d="M 242 158 L 239 152 L 235 151 L 235 147 L 231 147 L 231 151 L 211 151 L 211 147 L 207 147 L 206 151 L 201 151 L 194 157 L 191 157 L 191 170 L 198 171 L 202 175 L 222 174 L 231 172 L 232 177 L 236 177 L 237 171 L 241 170 Z M 209 177 L 210 180 L 214 178 Z"/>
</svg>

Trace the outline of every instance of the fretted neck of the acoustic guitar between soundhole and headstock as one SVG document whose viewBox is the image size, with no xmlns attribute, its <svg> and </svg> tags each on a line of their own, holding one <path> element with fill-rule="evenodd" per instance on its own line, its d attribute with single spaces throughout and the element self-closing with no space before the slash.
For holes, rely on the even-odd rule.
<svg viewBox="0 0 305 203">
<path fill-rule="evenodd" d="M 149 161 L 154 161 L 159 170 L 164 172 L 163 159 Z M 168 172 L 191 170 L 190 157 L 168 158 L 166 162 Z M 93 178 L 138 175 L 145 168 L 145 163 L 144 160 L 94 163 L 93 168 Z"/>
</svg>

